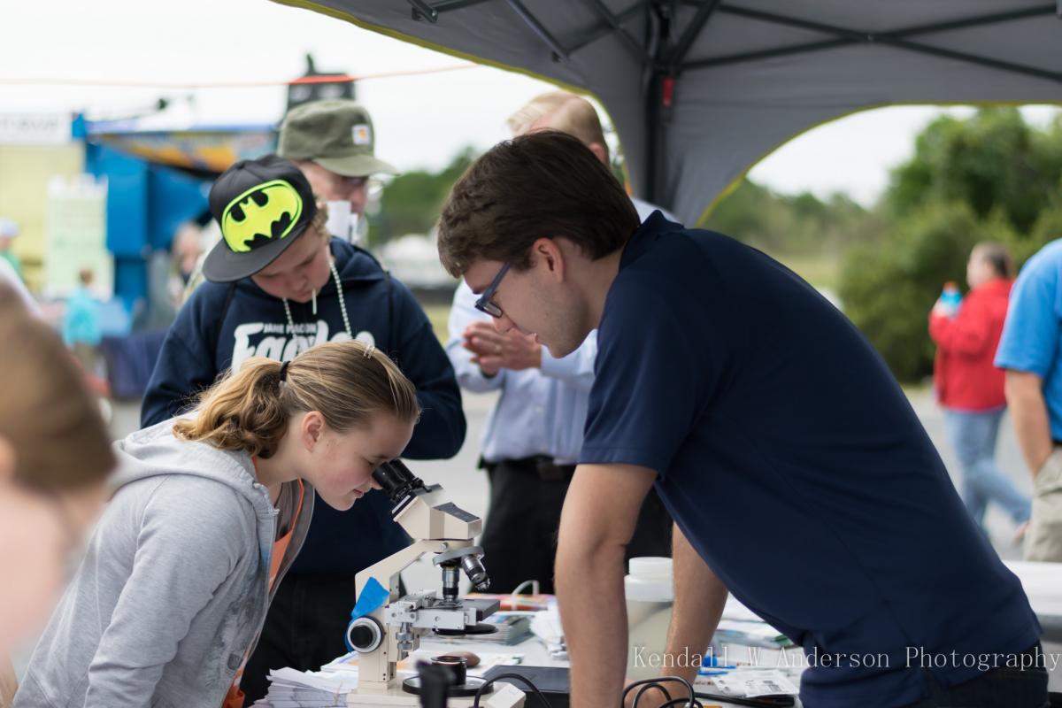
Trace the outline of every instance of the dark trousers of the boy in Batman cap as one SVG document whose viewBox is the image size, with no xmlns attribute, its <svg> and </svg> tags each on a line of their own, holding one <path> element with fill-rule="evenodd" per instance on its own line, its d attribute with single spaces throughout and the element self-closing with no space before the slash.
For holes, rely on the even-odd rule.
<svg viewBox="0 0 1062 708">
<path fill-rule="evenodd" d="M 264 697 L 270 669 L 316 671 L 346 654 L 354 576 L 288 573 L 276 589 L 254 654 L 243 670 L 244 706 Z"/>
</svg>

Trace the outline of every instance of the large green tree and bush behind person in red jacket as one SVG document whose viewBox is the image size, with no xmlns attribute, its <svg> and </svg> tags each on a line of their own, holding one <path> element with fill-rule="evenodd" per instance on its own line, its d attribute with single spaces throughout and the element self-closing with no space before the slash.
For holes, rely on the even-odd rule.
<svg viewBox="0 0 1062 708">
<path fill-rule="evenodd" d="M 885 237 L 847 252 L 839 295 L 896 377 L 914 381 L 932 370 L 926 314 L 944 281 L 965 288 L 976 243 L 1004 243 L 1021 265 L 1062 236 L 1062 124 L 1038 129 L 1011 107 L 939 118 L 879 211 Z"/>
</svg>

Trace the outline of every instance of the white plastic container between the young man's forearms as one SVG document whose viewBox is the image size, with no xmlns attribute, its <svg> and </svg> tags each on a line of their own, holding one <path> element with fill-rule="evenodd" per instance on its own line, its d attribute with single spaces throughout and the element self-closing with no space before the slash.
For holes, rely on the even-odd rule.
<svg viewBox="0 0 1062 708">
<path fill-rule="evenodd" d="M 631 558 L 623 579 L 627 593 L 627 676 L 660 674 L 671 623 L 674 581 L 671 558 Z"/>
</svg>

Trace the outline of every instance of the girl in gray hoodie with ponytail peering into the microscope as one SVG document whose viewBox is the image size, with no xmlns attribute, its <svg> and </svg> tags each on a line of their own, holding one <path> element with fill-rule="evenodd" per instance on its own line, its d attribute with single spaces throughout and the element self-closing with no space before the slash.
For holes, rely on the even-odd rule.
<svg viewBox="0 0 1062 708">
<path fill-rule="evenodd" d="M 116 444 L 116 491 L 15 708 L 242 706 L 241 672 L 314 498 L 354 506 L 419 412 L 386 355 L 328 342 L 251 359 L 189 415 Z"/>
</svg>

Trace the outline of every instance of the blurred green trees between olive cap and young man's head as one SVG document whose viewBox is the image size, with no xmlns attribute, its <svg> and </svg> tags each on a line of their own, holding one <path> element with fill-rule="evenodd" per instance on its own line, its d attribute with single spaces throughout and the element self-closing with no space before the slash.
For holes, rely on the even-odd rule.
<svg viewBox="0 0 1062 708">
<path fill-rule="evenodd" d="M 475 151 L 465 148 L 441 172 L 406 172 L 389 182 L 379 212 L 369 220 L 370 243 L 379 245 L 407 234 L 430 231 L 453 184 L 475 159 Z"/>
</svg>

